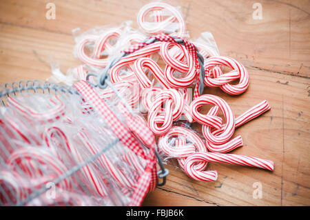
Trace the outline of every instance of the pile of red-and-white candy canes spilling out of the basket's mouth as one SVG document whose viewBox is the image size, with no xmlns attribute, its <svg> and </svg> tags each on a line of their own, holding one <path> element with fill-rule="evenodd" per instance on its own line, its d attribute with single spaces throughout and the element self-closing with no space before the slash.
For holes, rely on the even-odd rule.
<svg viewBox="0 0 310 220">
<path fill-rule="evenodd" d="M 109 66 L 107 80 L 130 106 L 147 113 L 147 124 L 158 136 L 159 150 L 167 157 L 178 159 L 180 168 L 189 177 L 215 181 L 217 172 L 205 170 L 208 162 L 272 171 L 273 162 L 267 159 L 226 154 L 243 144 L 240 135 L 233 137 L 235 129 L 270 110 L 269 103 L 264 100 L 235 116 L 224 99 L 202 94 L 202 85 L 218 87 L 233 96 L 242 94 L 249 87 L 245 66 L 234 58 L 220 56 L 209 32 L 196 40 L 189 39 L 178 7 L 163 2 L 148 3 L 139 10 L 136 21 L 138 30 L 127 22 L 120 28 L 103 28 L 102 32 L 97 28 L 77 37 L 75 54 L 83 64 L 70 70 L 68 75 L 96 83 L 96 79 L 87 74 L 100 76 L 109 61 L 125 52 L 125 56 Z M 148 43 L 149 39 L 153 39 L 152 43 Z M 197 52 L 200 61 L 203 57 L 203 63 L 199 62 Z M 161 60 L 165 63 L 164 70 L 158 64 Z M 231 70 L 224 72 L 225 68 Z M 237 84 L 231 83 L 236 80 Z M 110 88 L 96 89 L 102 99 L 111 99 L 115 92 Z M 213 107 L 202 114 L 200 109 L 205 105 Z M 225 123 L 218 116 L 219 111 L 223 112 Z M 203 138 L 192 129 L 175 126 L 180 119 L 200 123 Z"/>
</svg>

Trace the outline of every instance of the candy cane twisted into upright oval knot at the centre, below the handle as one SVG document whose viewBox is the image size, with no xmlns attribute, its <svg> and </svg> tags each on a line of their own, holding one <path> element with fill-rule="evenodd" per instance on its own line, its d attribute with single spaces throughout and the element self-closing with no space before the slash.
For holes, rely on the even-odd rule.
<svg viewBox="0 0 310 220">
<path fill-rule="evenodd" d="M 164 101 L 166 101 L 165 113 L 158 114 Z M 172 110 L 173 104 L 174 109 Z M 183 113 L 183 110 L 184 100 L 180 92 L 174 89 L 162 90 L 158 93 L 158 95 L 156 95 L 153 106 L 149 110 L 149 114 L 147 116 L 149 128 L 152 132 L 154 132 L 154 134 L 165 134 L 165 132 L 171 128 L 172 121 L 178 119 L 180 114 Z M 159 127 L 157 123 L 163 123 L 163 125 Z"/>
</svg>

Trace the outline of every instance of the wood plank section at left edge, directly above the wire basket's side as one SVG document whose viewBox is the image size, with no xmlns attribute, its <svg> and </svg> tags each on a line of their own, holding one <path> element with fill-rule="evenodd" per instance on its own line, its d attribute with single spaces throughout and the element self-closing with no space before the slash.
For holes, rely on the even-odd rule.
<svg viewBox="0 0 310 220">
<path fill-rule="evenodd" d="M 47 79 L 52 74 L 51 56 L 64 73 L 79 64 L 72 55 L 71 36 L 3 23 L 0 30 L 1 83 Z"/>
</svg>

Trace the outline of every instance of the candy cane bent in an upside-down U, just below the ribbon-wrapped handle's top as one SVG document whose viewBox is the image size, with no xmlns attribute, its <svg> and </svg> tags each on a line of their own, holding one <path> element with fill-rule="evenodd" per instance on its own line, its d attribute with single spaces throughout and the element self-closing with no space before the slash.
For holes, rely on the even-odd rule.
<svg viewBox="0 0 310 220">
<path fill-rule="evenodd" d="M 145 75 L 144 68 L 148 68 L 154 74 L 154 77 L 163 85 L 164 88 L 170 88 L 164 78 L 164 73 L 158 64 L 147 57 L 139 58 L 134 61 L 134 74 L 142 88 L 149 88 L 152 82 Z"/>
</svg>

